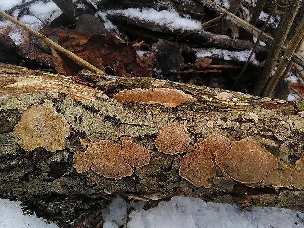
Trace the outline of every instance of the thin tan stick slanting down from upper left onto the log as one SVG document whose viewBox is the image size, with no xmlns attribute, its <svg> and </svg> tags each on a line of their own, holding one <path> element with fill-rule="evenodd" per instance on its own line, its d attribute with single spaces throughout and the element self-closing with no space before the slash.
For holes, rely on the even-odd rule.
<svg viewBox="0 0 304 228">
<path fill-rule="evenodd" d="M 71 58 L 74 61 L 76 61 L 77 63 L 79 63 L 84 68 L 86 68 L 86 69 L 88 69 L 90 71 L 93 71 L 93 72 L 98 72 L 98 73 L 101 73 L 101 74 L 105 74 L 105 72 L 103 72 L 102 70 L 98 69 L 97 67 L 94 67 L 92 64 L 90 64 L 87 61 L 83 60 L 82 58 L 80 58 L 76 54 L 72 53 L 71 51 L 68 51 L 67 49 L 65 49 L 63 47 L 61 47 L 59 44 L 53 42 L 48 37 L 42 35 L 41 33 L 35 31 L 34 29 L 28 27 L 27 25 L 23 24 L 22 22 L 18 21 L 17 19 L 13 18 L 12 16 L 8 15 L 7 13 L 5 13 L 2 10 L 0 10 L 0 16 L 2 16 L 4 18 L 10 20 L 14 24 L 22 27 L 23 29 L 25 29 L 26 31 L 28 31 L 30 34 L 38 37 L 43 42 L 45 42 L 46 44 L 48 44 L 49 46 L 51 46 L 53 49 L 61 51 L 62 53 L 66 54 L 69 58 Z"/>
</svg>

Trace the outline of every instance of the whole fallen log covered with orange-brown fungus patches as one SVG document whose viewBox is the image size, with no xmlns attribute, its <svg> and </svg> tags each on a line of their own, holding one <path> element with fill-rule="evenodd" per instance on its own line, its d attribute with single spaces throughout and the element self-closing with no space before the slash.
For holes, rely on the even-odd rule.
<svg viewBox="0 0 304 228">
<path fill-rule="evenodd" d="M 303 211 L 303 100 L 81 77 L 95 86 L 0 64 L 1 198 L 64 228 L 95 226 L 114 195 Z"/>
</svg>

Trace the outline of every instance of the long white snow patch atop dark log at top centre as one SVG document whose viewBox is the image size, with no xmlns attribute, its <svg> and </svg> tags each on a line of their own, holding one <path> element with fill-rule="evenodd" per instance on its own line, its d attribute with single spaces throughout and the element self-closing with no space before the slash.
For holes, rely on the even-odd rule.
<svg viewBox="0 0 304 228">
<path fill-rule="evenodd" d="M 107 14 L 121 14 L 128 18 L 155 23 L 170 30 L 194 31 L 202 28 L 201 22 L 193 20 L 189 15 L 180 16 L 175 10 L 138 9 L 108 10 Z"/>
</svg>

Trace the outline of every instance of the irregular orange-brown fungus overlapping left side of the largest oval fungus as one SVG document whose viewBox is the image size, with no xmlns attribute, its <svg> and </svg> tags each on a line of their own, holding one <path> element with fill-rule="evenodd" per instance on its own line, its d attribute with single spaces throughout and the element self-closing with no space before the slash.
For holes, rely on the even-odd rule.
<svg viewBox="0 0 304 228">
<path fill-rule="evenodd" d="M 179 174 L 194 186 L 210 188 L 208 178 L 214 177 L 213 154 L 230 149 L 230 140 L 222 135 L 211 134 L 202 142 L 194 144 L 195 150 L 186 154 L 180 161 Z"/>
</svg>

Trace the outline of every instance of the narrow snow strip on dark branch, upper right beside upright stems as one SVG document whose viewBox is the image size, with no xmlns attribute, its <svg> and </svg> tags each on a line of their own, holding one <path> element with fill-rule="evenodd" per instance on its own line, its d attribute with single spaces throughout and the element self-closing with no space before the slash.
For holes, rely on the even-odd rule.
<svg viewBox="0 0 304 228">
<path fill-rule="evenodd" d="M 246 62 L 252 50 L 246 51 L 228 51 L 226 49 L 217 48 L 206 48 L 206 49 L 194 49 L 196 51 L 197 58 L 212 58 L 217 57 L 224 60 L 238 60 L 241 62 Z M 251 63 L 257 65 L 259 62 L 255 58 L 255 53 L 250 60 Z"/>
</svg>

